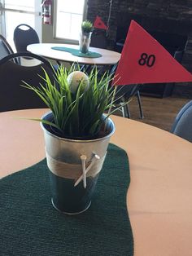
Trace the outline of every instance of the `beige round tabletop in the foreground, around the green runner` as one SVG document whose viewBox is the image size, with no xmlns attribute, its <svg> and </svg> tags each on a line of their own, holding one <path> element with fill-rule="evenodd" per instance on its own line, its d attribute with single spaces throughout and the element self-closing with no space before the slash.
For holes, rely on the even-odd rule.
<svg viewBox="0 0 192 256">
<path fill-rule="evenodd" d="M 41 117 L 46 109 L 0 113 L 1 177 L 43 157 L 40 124 L 15 117 Z M 192 254 L 192 143 L 142 122 L 112 116 L 111 143 L 129 155 L 127 195 L 135 256 Z"/>
</svg>

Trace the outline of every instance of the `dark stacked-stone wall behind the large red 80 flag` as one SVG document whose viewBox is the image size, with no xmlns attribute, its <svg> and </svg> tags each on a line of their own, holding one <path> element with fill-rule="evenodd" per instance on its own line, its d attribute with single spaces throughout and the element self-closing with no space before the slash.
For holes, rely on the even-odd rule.
<svg viewBox="0 0 192 256">
<path fill-rule="evenodd" d="M 99 15 L 107 23 L 109 6 L 109 0 L 89 0 L 88 19 L 94 21 Z M 115 47 L 117 28 L 129 28 L 131 19 L 147 30 L 187 35 L 182 65 L 192 72 L 192 0 L 113 0 L 108 48 Z M 177 83 L 173 94 L 192 99 L 192 84 Z"/>
</svg>

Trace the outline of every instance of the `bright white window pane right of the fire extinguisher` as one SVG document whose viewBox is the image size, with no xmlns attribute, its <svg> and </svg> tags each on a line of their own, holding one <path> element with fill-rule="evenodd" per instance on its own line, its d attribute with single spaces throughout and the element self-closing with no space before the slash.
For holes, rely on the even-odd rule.
<svg viewBox="0 0 192 256">
<path fill-rule="evenodd" d="M 78 41 L 85 13 L 85 0 L 57 0 L 55 38 Z"/>
</svg>

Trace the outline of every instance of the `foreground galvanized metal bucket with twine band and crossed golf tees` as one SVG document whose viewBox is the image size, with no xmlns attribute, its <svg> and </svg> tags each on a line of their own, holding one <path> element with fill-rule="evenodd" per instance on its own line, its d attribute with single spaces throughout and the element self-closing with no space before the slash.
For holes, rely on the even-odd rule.
<svg viewBox="0 0 192 256">
<path fill-rule="evenodd" d="M 42 119 L 51 121 L 52 113 Z M 115 126 L 107 119 L 107 135 L 98 139 L 65 139 L 53 134 L 41 123 L 46 142 L 46 160 L 50 170 L 52 204 L 66 214 L 79 214 L 89 208 L 98 174 Z"/>
</svg>

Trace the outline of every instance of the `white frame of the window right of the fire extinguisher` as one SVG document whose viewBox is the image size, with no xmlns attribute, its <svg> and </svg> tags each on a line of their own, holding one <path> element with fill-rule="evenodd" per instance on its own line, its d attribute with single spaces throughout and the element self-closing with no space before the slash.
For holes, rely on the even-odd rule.
<svg viewBox="0 0 192 256">
<path fill-rule="evenodd" d="M 70 1 L 70 0 L 69 0 L 69 1 Z M 85 20 L 86 15 L 87 15 L 87 2 L 88 2 L 88 0 L 84 0 L 83 18 L 82 18 L 82 20 Z M 54 37 L 54 39 L 59 40 L 59 41 L 64 41 L 64 42 L 66 42 L 66 43 L 78 44 L 78 43 L 79 43 L 78 40 L 69 39 L 69 38 L 59 38 L 59 37 L 56 37 L 57 5 L 58 5 L 58 0 L 55 0 L 55 7 L 54 7 L 54 24 L 53 24 L 53 37 Z"/>
</svg>

